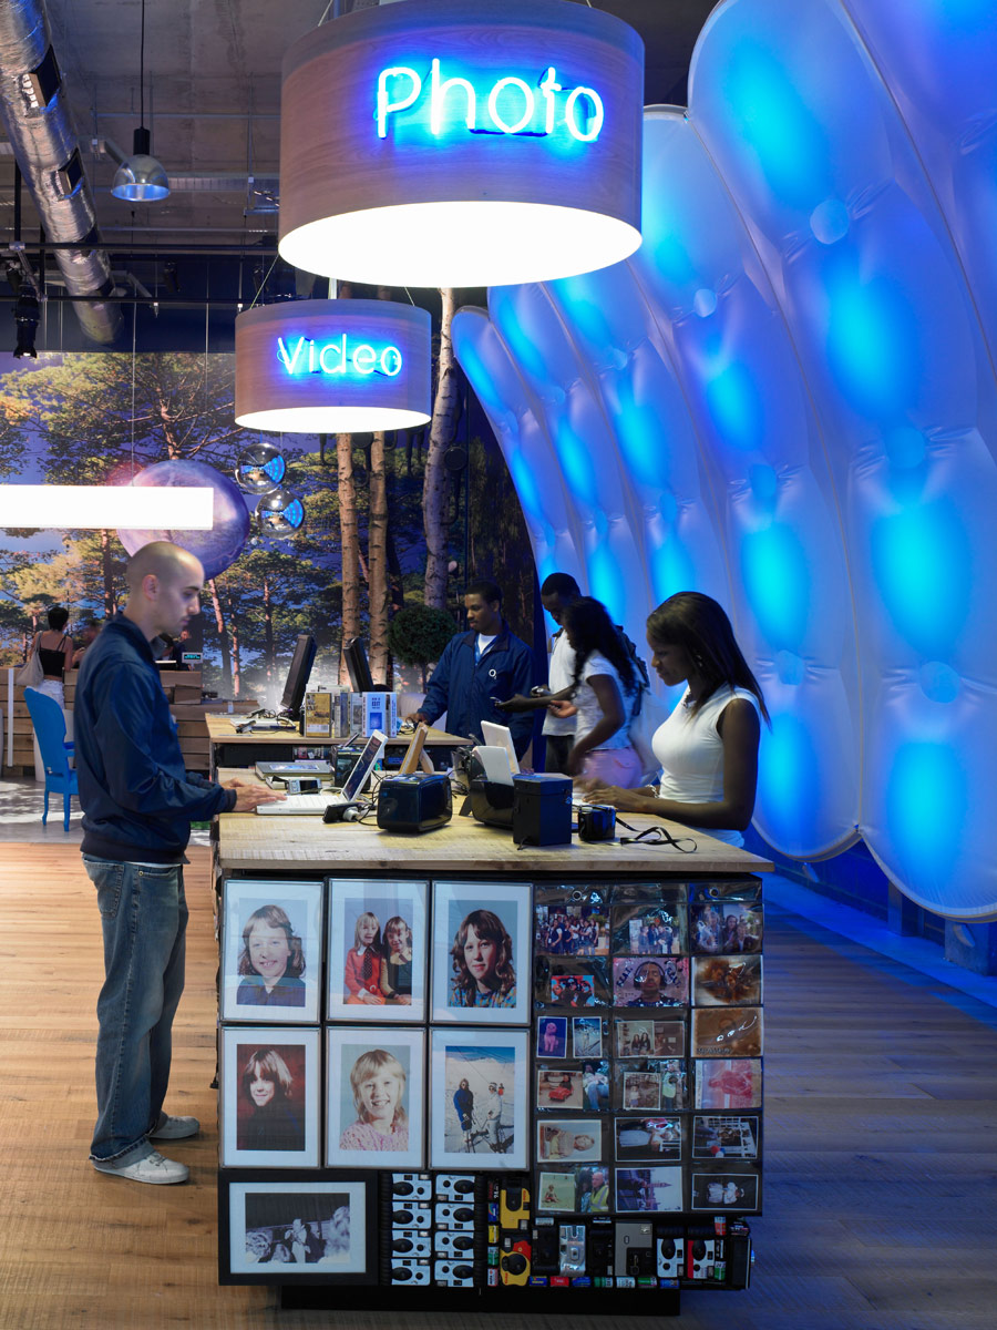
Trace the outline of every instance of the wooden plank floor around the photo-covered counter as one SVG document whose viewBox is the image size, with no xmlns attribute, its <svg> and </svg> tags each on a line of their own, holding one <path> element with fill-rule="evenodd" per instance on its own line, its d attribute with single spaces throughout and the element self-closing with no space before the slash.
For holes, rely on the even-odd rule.
<svg viewBox="0 0 997 1330">
<path fill-rule="evenodd" d="M 101 944 L 78 850 L 0 846 L 0 1330 L 566 1330 L 562 1317 L 516 1315 L 514 1297 L 501 1291 L 496 1315 L 457 1318 L 283 1313 L 271 1290 L 218 1287 L 215 952 L 206 851 L 191 861 L 169 1107 L 195 1113 L 205 1132 L 173 1146 L 191 1184 L 152 1188 L 100 1176 L 86 1160 Z M 671 1323 L 990 1330 L 994 1012 L 771 908 L 766 1007 L 766 1204 L 754 1222 L 754 1283 L 738 1294 L 683 1293 Z M 634 1321 L 570 1326 L 633 1330 Z"/>
</svg>

